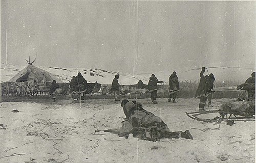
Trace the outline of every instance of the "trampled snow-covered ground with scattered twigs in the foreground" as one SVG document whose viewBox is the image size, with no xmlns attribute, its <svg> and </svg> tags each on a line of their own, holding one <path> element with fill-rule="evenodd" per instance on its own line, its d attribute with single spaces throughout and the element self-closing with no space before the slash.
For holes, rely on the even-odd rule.
<svg viewBox="0 0 256 163">
<path fill-rule="evenodd" d="M 190 119 L 185 112 L 195 111 L 198 99 L 169 103 L 160 98 L 159 104 L 139 101 L 170 130 L 189 129 L 194 140 L 149 142 L 108 132 L 91 134 L 95 129 L 121 126 L 124 114 L 113 99 L 82 104 L 70 104 L 70 100 L 2 102 L 1 123 L 6 130 L 0 130 L 0 162 L 254 162 L 254 121 L 228 126 Z M 12 113 L 14 109 L 19 113 Z"/>
</svg>

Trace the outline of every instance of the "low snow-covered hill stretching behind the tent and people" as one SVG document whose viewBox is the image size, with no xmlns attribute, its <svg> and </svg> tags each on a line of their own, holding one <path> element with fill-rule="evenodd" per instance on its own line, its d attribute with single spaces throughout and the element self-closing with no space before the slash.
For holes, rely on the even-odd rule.
<svg viewBox="0 0 256 163">
<path fill-rule="evenodd" d="M 36 65 L 35 65 L 36 66 Z M 6 65 L 1 63 L 1 81 L 9 81 L 15 74 L 20 70 L 24 69 L 26 66 L 17 66 L 17 65 Z M 4 69 L 5 68 L 5 69 Z M 102 69 L 91 69 L 91 68 L 57 68 L 57 67 L 39 67 L 43 70 L 46 70 L 57 77 L 59 77 L 62 82 L 69 82 L 73 75 L 77 75 L 78 72 L 81 72 L 83 77 L 87 79 L 89 83 L 101 83 L 101 84 L 111 84 L 113 78 L 116 74 L 119 74 L 119 83 L 121 85 L 127 84 L 137 84 L 141 79 L 144 84 L 147 84 L 149 77 L 152 72 L 141 73 L 141 74 L 129 74 L 122 72 L 113 72 L 106 71 Z M 214 73 L 216 81 L 222 82 L 227 80 L 233 80 L 236 82 L 243 83 L 246 78 L 250 77 L 251 72 L 255 71 L 250 68 L 240 68 L 240 67 L 209 67 L 204 73 Z M 177 72 L 180 82 L 184 80 L 191 80 L 192 82 L 198 81 L 200 79 L 199 73 L 201 68 L 179 68 L 176 70 L 153 72 L 159 80 L 163 80 L 165 84 L 168 84 L 168 77 L 172 74 L 173 71 Z"/>
</svg>

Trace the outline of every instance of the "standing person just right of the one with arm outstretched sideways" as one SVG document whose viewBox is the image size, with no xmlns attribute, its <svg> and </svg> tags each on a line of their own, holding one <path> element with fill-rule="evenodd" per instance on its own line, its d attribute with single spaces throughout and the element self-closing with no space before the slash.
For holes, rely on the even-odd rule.
<svg viewBox="0 0 256 163">
<path fill-rule="evenodd" d="M 169 98 L 168 102 L 170 102 L 173 99 L 173 102 L 176 102 L 176 96 L 177 91 L 179 90 L 179 78 L 177 76 L 177 73 L 174 71 L 172 75 L 169 77 Z M 178 102 L 178 101 L 177 101 Z"/>
</svg>

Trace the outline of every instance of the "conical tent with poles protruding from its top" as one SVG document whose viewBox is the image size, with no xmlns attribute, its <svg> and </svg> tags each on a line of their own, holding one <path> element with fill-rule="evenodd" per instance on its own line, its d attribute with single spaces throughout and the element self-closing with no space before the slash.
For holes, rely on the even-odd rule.
<svg viewBox="0 0 256 163">
<path fill-rule="evenodd" d="M 45 80 L 45 82 L 52 82 L 52 80 L 56 80 L 56 83 L 63 83 L 58 77 L 54 76 L 50 72 L 34 66 L 33 63 L 35 62 L 35 60 L 36 59 L 34 59 L 31 63 L 26 60 L 28 62 L 28 66 L 19 73 L 17 73 L 15 76 L 13 76 L 10 79 L 10 82 L 20 83 L 37 79 L 38 81 Z"/>
</svg>

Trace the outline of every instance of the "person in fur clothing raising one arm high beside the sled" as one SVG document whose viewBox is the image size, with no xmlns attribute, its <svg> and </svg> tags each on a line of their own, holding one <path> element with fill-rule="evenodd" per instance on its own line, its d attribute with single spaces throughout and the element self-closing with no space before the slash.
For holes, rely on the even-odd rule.
<svg viewBox="0 0 256 163">
<path fill-rule="evenodd" d="M 210 78 L 208 75 L 204 77 L 204 72 L 205 72 L 205 67 L 202 67 L 202 70 L 200 72 L 199 86 L 195 94 L 195 97 L 200 98 L 199 112 L 205 111 L 204 106 L 207 100 L 208 93 L 210 92 L 210 86 L 209 86 Z"/>
</svg>

